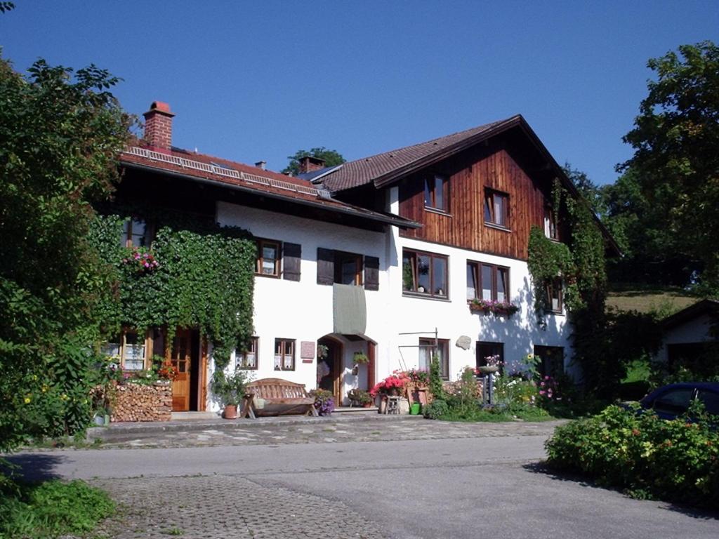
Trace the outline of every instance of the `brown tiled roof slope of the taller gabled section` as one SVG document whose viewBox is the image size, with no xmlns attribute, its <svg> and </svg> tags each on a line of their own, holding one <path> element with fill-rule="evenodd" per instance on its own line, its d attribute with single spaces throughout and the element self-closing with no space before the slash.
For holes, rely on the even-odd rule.
<svg viewBox="0 0 719 539">
<path fill-rule="evenodd" d="M 411 170 L 413 165 L 421 165 L 435 155 L 451 152 L 455 147 L 463 146 L 463 143 L 471 142 L 472 139 L 482 139 L 506 124 L 513 124 L 518 119 L 521 119 L 521 116 L 512 116 L 508 119 L 493 121 L 490 124 L 446 135 L 446 137 L 439 137 L 439 139 L 344 163 L 342 168 L 324 178 L 324 185 L 331 191 L 341 191 L 377 182 L 392 172 Z"/>
</svg>

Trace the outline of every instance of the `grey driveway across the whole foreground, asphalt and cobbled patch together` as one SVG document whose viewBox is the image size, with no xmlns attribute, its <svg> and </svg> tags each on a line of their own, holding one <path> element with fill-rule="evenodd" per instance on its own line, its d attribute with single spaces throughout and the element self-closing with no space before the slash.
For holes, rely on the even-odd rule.
<svg viewBox="0 0 719 539">
<path fill-rule="evenodd" d="M 406 430 L 411 424 L 416 436 Z M 377 420 L 359 428 L 377 441 L 337 432 L 354 430 L 362 439 L 358 428 L 325 422 L 321 429 L 334 430 L 313 431 L 325 439 L 308 441 L 308 433 L 277 425 L 262 429 L 282 437 L 277 443 L 51 451 L 14 459 L 40 475 L 86 478 L 109 489 L 124 510 L 105 530 L 119 538 L 719 536 L 717 515 L 543 473 L 536 463 L 552 425 Z M 397 429 L 403 435 L 388 439 Z"/>
</svg>

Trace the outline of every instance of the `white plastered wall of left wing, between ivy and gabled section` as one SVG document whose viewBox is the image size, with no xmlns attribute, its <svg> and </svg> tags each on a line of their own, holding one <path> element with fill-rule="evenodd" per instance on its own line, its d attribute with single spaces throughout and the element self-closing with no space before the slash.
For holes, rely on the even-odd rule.
<svg viewBox="0 0 719 539">
<path fill-rule="evenodd" d="M 259 337 L 259 350 L 258 369 L 251 372 L 255 379 L 279 377 L 304 384 L 308 390 L 313 389 L 316 387 L 316 356 L 311 363 L 303 363 L 300 357 L 301 342 L 316 344 L 319 338 L 333 331 L 332 287 L 317 284 L 317 248 L 378 257 L 382 268 L 385 266 L 384 234 L 230 203 L 218 203 L 217 221 L 223 226 L 240 226 L 260 238 L 288 241 L 302 246 L 299 282 L 255 276 L 254 335 Z M 381 280 L 381 277 L 380 290 L 365 290 L 365 334 L 375 341 L 380 340 L 387 320 L 384 308 L 387 292 L 387 282 Z M 275 371 L 275 338 L 296 341 L 294 371 Z M 352 387 L 366 384 L 367 367 L 360 366 L 359 374 L 352 375 L 352 356 L 355 351 L 366 353 L 367 344 L 365 341 L 339 340 L 344 345 L 346 395 Z"/>
</svg>

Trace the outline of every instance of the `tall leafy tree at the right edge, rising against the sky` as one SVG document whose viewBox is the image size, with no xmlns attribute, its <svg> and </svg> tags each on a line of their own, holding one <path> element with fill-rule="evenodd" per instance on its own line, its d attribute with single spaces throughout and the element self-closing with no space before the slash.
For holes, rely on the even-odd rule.
<svg viewBox="0 0 719 539">
<path fill-rule="evenodd" d="M 651 248 L 697 261 L 705 291 L 719 292 L 719 47 L 705 41 L 647 63 L 648 83 L 634 128 L 623 138 L 631 171 L 646 199 Z M 624 185 L 623 187 L 631 187 Z M 638 198 L 635 198 L 638 200 Z M 664 238 L 661 241 L 659 238 Z M 661 257 L 660 257 L 661 258 Z M 670 257 L 665 256 L 665 260 Z"/>
</svg>

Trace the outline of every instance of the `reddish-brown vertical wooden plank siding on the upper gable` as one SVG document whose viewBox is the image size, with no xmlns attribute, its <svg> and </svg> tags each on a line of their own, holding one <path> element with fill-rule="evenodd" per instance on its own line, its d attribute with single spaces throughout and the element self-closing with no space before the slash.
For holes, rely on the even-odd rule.
<svg viewBox="0 0 719 539">
<path fill-rule="evenodd" d="M 449 178 L 447 213 L 424 207 L 430 174 Z M 485 225 L 485 188 L 509 195 L 508 230 Z M 544 229 L 549 193 L 551 182 L 533 180 L 500 143 L 475 147 L 400 182 L 400 216 L 423 224 L 400 236 L 526 260 L 531 226 Z"/>
</svg>

